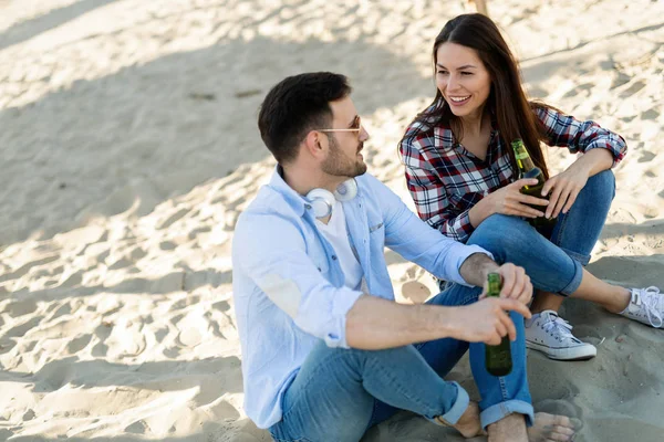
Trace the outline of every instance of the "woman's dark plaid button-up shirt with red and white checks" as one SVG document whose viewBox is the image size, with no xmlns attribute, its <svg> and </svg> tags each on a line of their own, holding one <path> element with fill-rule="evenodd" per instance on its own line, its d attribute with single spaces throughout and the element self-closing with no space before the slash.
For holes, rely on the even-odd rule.
<svg viewBox="0 0 664 442">
<path fill-rule="evenodd" d="M 625 140 L 594 122 L 579 122 L 549 108 L 536 113 L 549 146 L 567 147 L 572 154 L 608 149 L 613 166 L 625 156 Z M 474 230 L 468 211 L 488 193 L 515 181 L 507 148 L 494 128 L 483 161 L 456 143 L 449 128 L 412 124 L 400 151 L 419 218 L 443 234 L 466 242 Z"/>
</svg>

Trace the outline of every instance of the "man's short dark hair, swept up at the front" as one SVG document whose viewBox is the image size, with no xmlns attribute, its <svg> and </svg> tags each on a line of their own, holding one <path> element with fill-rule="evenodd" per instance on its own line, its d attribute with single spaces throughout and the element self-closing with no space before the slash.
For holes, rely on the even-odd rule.
<svg viewBox="0 0 664 442">
<path fill-rule="evenodd" d="M 263 99 L 258 114 L 260 136 L 277 162 L 298 156 L 298 146 L 310 130 L 329 128 L 330 102 L 349 96 L 344 75 L 313 72 L 279 82 Z"/>
</svg>

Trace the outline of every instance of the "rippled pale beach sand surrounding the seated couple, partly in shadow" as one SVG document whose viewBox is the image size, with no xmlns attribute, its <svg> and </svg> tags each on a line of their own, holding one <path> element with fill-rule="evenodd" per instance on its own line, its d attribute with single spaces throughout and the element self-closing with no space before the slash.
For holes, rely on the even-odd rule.
<svg viewBox="0 0 664 442">
<path fill-rule="evenodd" d="M 589 269 L 664 285 L 664 2 L 489 2 L 533 97 L 630 145 Z M 0 440 L 268 441 L 241 403 L 230 243 L 271 173 L 256 113 L 304 71 L 350 76 L 370 170 L 412 207 L 396 143 L 465 1 L 0 0 Z M 561 170 L 573 157 L 550 150 Z M 430 277 L 388 252 L 401 302 Z M 660 441 L 664 332 L 568 302 L 585 362 L 529 354 L 578 441 Z M 471 394 L 467 360 L 450 375 Z M 458 441 L 412 413 L 364 442 Z M 480 440 L 480 439 L 478 439 Z"/>
</svg>

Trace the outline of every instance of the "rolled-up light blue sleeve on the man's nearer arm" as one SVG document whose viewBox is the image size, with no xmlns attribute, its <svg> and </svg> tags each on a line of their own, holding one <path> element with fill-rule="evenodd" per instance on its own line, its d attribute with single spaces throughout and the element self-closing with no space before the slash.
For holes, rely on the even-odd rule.
<svg viewBox="0 0 664 442">
<path fill-rule="evenodd" d="M 362 292 L 335 287 L 307 254 L 298 227 L 280 217 L 246 217 L 236 230 L 234 265 L 303 332 L 347 348 L 346 314 Z"/>
</svg>

